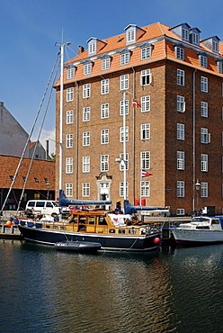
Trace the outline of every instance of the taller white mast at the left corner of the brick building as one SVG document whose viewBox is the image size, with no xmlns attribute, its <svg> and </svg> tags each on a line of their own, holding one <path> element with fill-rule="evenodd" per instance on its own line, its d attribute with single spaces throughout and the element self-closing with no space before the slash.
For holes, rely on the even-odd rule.
<svg viewBox="0 0 223 333">
<path fill-rule="evenodd" d="M 64 48 L 70 45 L 66 42 L 60 45 L 60 106 L 59 106 L 59 166 L 58 166 L 58 188 L 63 189 L 63 94 L 64 94 Z"/>
</svg>

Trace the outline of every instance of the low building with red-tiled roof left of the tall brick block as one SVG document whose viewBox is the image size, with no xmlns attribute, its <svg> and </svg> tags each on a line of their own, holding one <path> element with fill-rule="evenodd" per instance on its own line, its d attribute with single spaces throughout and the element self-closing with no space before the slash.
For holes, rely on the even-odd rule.
<svg viewBox="0 0 223 333">
<path fill-rule="evenodd" d="M 20 159 L 20 157 L 0 155 L 0 209 L 2 209 L 9 192 Z M 31 163 L 31 158 L 23 158 L 13 188 L 4 206 L 5 210 L 17 209 L 25 182 L 21 208 L 24 208 L 30 199 L 55 199 L 55 162 L 33 159 Z"/>
</svg>

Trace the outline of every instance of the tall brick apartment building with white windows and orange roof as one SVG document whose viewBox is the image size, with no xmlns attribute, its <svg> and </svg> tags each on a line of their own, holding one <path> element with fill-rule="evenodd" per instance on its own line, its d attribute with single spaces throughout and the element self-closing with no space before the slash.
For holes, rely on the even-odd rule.
<svg viewBox="0 0 223 333">
<path fill-rule="evenodd" d="M 177 214 L 206 206 L 221 212 L 223 43 L 219 37 L 202 40 L 201 31 L 188 23 L 142 28 L 130 24 L 120 35 L 91 38 L 87 45 L 86 50 L 79 47 L 76 58 L 64 68 L 67 196 L 123 200 L 123 166 L 116 159 L 124 157 L 125 110 L 129 202 L 142 197 L 147 205 L 170 206 Z M 59 81 L 55 87 L 59 125 Z M 133 107 L 133 99 L 140 107 Z M 59 126 L 56 131 L 58 142 Z M 142 168 L 152 176 L 141 178 Z"/>
</svg>

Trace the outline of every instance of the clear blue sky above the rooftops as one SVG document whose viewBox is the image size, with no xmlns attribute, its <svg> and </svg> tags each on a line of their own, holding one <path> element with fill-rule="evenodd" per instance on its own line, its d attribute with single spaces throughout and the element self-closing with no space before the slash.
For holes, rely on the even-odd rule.
<svg viewBox="0 0 223 333">
<path fill-rule="evenodd" d="M 65 60 L 76 56 L 78 45 L 86 48 L 90 37 L 103 40 L 124 32 L 130 23 L 189 23 L 201 30 L 201 39 L 217 35 L 223 40 L 222 9 L 222 0 L 0 0 L 0 101 L 30 133 L 62 35 L 63 41 L 71 41 Z M 54 139 L 54 131 L 55 93 L 42 144 Z M 53 141 L 49 148 L 54 150 Z"/>
</svg>

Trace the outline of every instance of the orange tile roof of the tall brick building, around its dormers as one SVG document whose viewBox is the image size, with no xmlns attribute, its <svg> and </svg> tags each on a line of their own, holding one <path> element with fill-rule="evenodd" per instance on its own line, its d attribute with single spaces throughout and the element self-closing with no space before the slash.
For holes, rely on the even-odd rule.
<svg viewBox="0 0 223 333">
<path fill-rule="evenodd" d="M 131 49 L 132 54 L 131 54 L 131 58 L 130 58 L 130 63 L 128 65 L 120 66 L 120 53 L 117 52 L 117 53 L 114 53 L 111 55 L 112 63 L 111 63 L 110 69 L 103 71 L 101 68 L 100 58 L 95 58 L 92 73 L 87 76 L 84 76 L 84 74 L 83 74 L 84 73 L 84 70 L 83 70 L 84 64 L 80 63 L 79 65 L 77 65 L 75 80 L 78 81 L 78 80 L 85 79 L 85 78 L 88 79 L 90 77 L 99 76 L 99 75 L 103 76 L 104 74 L 112 73 L 113 71 L 124 69 L 125 67 L 138 66 L 139 65 L 138 59 L 140 58 L 140 56 L 139 56 L 140 49 L 134 48 L 134 46 L 138 43 L 143 43 L 144 41 L 145 42 L 151 41 L 153 43 L 153 40 L 155 40 L 155 39 L 156 39 L 156 42 L 154 42 L 152 57 L 150 59 L 147 59 L 147 64 L 149 64 L 150 62 L 152 63 L 154 61 L 157 61 L 159 59 L 166 58 L 166 57 L 173 59 L 174 61 L 181 62 L 181 60 L 178 60 L 175 58 L 174 46 L 170 41 L 168 41 L 168 40 L 158 40 L 157 41 L 157 39 L 162 36 L 169 37 L 176 41 L 182 41 L 176 34 L 174 34 L 174 32 L 170 31 L 171 27 L 169 27 L 163 23 L 153 23 L 153 24 L 147 25 L 145 27 L 142 27 L 140 29 L 145 32 L 141 35 L 141 37 L 138 38 L 136 43 L 133 43 L 133 44 L 130 44 L 127 46 L 126 45 L 126 33 L 123 32 L 120 35 L 113 36 L 111 38 L 102 40 L 104 46 L 102 47 L 102 49 L 99 49 L 97 51 L 97 54 L 95 55 L 95 56 L 100 56 L 103 54 L 108 54 L 109 52 L 112 52 L 117 49 L 125 49 L 127 47 L 128 48 L 132 47 L 132 49 Z M 192 44 L 186 43 L 184 41 L 183 41 L 183 43 L 188 44 L 188 46 L 192 45 Z M 195 49 L 191 49 L 191 48 L 185 49 L 185 61 L 183 61 L 183 64 L 187 63 L 189 66 L 201 68 L 202 70 L 206 70 L 204 67 L 200 66 L 197 52 L 199 50 L 210 52 L 210 50 L 205 48 L 202 44 L 200 45 L 200 47 L 196 47 L 194 45 L 193 45 L 193 47 Z M 222 56 L 223 55 L 223 43 L 222 42 L 219 43 L 219 50 L 220 50 L 220 55 Z M 213 53 L 213 55 L 214 55 L 214 53 Z M 69 65 L 71 63 L 76 63 L 78 61 L 82 62 L 83 60 L 85 60 L 87 58 L 89 58 L 88 49 L 86 49 L 84 52 L 78 54 L 76 56 L 76 58 L 72 58 L 69 61 L 67 61 L 66 65 Z M 214 58 L 211 58 L 209 56 L 209 63 L 210 63 L 210 65 L 208 67 L 208 70 L 214 71 L 216 74 L 219 75 L 216 61 L 214 60 Z M 65 71 L 66 71 L 66 69 L 65 69 Z M 64 82 L 65 83 L 72 82 L 72 79 L 67 80 L 66 73 L 64 75 Z M 56 85 L 59 85 L 59 80 Z"/>
</svg>

